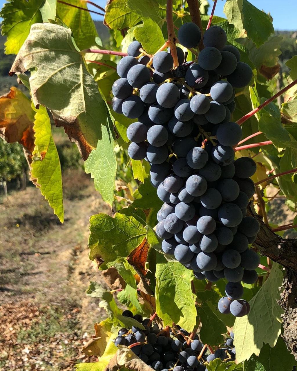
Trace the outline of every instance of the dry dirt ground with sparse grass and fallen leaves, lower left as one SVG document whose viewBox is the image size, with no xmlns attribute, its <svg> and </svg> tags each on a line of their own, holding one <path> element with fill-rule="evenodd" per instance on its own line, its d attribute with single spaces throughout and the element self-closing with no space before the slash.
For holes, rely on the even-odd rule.
<svg viewBox="0 0 297 371">
<path fill-rule="evenodd" d="M 0 370 L 73 370 L 104 313 L 85 295 L 89 216 L 110 209 L 83 170 L 63 174 L 62 225 L 35 187 L 0 204 Z"/>
</svg>

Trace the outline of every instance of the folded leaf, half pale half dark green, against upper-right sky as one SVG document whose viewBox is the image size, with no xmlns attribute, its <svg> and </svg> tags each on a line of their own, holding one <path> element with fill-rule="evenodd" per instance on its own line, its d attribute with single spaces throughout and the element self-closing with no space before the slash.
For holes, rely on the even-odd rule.
<svg viewBox="0 0 297 371">
<path fill-rule="evenodd" d="M 224 12 L 229 23 L 239 30 L 244 29 L 257 47 L 274 32 L 270 17 L 247 0 L 227 0 Z"/>
</svg>

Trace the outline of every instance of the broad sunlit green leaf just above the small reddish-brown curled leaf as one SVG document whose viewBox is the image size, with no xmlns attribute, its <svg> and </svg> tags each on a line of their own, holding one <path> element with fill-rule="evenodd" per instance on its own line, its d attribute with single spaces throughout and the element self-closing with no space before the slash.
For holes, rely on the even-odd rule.
<svg viewBox="0 0 297 371">
<path fill-rule="evenodd" d="M 97 214 L 90 218 L 90 259 L 101 258 L 108 267 L 126 258 L 146 237 L 144 224 L 131 211 L 116 213 L 114 218 Z"/>
</svg>

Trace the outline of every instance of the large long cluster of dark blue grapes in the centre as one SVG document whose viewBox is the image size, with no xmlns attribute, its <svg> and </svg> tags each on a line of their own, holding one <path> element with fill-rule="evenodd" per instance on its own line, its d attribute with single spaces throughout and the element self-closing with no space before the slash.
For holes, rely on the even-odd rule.
<svg viewBox="0 0 297 371">
<path fill-rule="evenodd" d="M 195 47 L 200 29 L 185 23 L 178 38 L 183 46 Z M 151 165 L 151 183 L 164 202 L 156 226 L 163 252 L 198 279 L 227 279 L 219 311 L 243 316 L 249 305 L 239 300 L 240 282 L 257 280 L 259 256 L 248 245 L 260 225 L 246 216 L 256 165 L 248 157 L 234 161 L 242 130 L 231 114 L 234 88 L 247 85 L 252 70 L 226 40 L 221 27 L 210 27 L 197 61 L 185 62 L 177 47 L 176 69 L 165 51 L 156 53 L 150 65 L 150 58 L 140 54 L 141 44 L 133 41 L 117 66 L 112 107 L 138 118 L 127 129 L 128 154 Z"/>
</svg>

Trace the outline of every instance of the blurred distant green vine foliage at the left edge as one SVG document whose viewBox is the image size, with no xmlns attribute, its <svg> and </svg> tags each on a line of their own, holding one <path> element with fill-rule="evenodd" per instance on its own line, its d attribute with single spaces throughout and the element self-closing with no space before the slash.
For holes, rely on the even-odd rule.
<svg viewBox="0 0 297 371">
<path fill-rule="evenodd" d="M 11 181 L 27 170 L 23 146 L 0 139 L 0 181 Z"/>
</svg>

